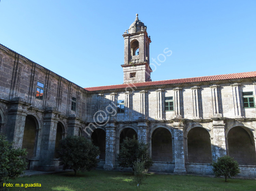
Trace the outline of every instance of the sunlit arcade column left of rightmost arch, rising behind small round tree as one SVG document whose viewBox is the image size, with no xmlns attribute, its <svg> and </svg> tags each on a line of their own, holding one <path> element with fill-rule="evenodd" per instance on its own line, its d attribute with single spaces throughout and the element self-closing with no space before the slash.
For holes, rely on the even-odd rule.
<svg viewBox="0 0 256 191">
<path fill-rule="evenodd" d="M 213 135 L 214 135 L 214 151 L 212 151 L 213 161 L 218 157 L 227 155 L 225 140 L 225 123 L 223 119 L 212 118 Z"/>
</svg>

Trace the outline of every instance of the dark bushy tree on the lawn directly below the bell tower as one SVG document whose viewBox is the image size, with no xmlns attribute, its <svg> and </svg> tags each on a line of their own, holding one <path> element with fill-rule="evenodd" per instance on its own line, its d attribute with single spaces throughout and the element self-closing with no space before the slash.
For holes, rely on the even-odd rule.
<svg viewBox="0 0 256 191">
<path fill-rule="evenodd" d="M 135 137 L 133 137 L 133 139 L 126 137 L 119 151 L 118 166 L 123 168 L 131 167 L 132 170 L 134 170 L 133 163 L 136 161 L 145 161 L 145 170 L 150 168 L 153 164 L 148 154 L 147 144 L 139 142 Z"/>
</svg>

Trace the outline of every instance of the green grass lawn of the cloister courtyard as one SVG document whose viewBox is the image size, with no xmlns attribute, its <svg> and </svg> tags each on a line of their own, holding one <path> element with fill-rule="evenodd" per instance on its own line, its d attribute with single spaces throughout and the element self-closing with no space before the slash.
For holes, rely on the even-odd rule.
<svg viewBox="0 0 256 191">
<path fill-rule="evenodd" d="M 211 178 L 190 175 L 158 175 L 147 174 L 145 184 L 141 185 L 141 190 L 165 191 L 165 190 L 228 190 L 245 191 L 256 190 L 255 180 Z M 79 190 L 126 190 L 137 191 L 135 185 L 131 185 L 131 173 L 93 170 L 90 172 L 78 172 L 74 177 L 74 172 L 59 174 L 45 174 L 37 176 L 20 177 L 11 180 L 12 184 L 33 184 L 39 183 L 41 187 L 11 187 L 10 191 L 17 190 L 51 190 L 51 191 L 79 191 Z"/>
</svg>

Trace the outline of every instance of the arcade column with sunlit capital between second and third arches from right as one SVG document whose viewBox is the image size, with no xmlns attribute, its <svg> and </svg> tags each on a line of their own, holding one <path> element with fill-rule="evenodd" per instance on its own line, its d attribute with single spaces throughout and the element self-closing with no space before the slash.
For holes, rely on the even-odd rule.
<svg viewBox="0 0 256 191">
<path fill-rule="evenodd" d="M 174 174 L 186 174 L 185 155 L 184 155 L 184 135 L 183 135 L 183 121 L 174 120 Z"/>
</svg>

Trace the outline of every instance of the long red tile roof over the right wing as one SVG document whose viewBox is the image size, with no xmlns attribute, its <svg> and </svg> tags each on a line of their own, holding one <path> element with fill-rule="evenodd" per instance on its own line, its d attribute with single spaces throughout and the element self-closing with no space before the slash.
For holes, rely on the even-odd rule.
<svg viewBox="0 0 256 191">
<path fill-rule="evenodd" d="M 256 77 L 256 71 L 233 73 L 233 74 L 222 74 L 222 75 L 210 75 L 210 76 L 202 76 L 202 77 L 189 77 L 189 78 L 175 79 L 175 80 L 141 82 L 141 83 L 133 83 L 133 84 L 98 86 L 98 87 L 90 87 L 90 88 L 84 88 L 84 89 L 87 91 L 100 91 L 100 90 L 110 90 L 110 89 L 122 89 L 126 87 L 144 87 L 144 86 L 183 84 L 183 83 L 193 83 L 193 82 L 208 82 L 208 81 L 218 81 L 218 80 L 243 79 L 243 78 L 250 78 L 250 77 Z"/>
</svg>

